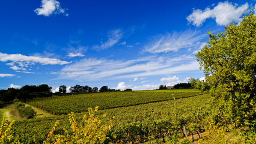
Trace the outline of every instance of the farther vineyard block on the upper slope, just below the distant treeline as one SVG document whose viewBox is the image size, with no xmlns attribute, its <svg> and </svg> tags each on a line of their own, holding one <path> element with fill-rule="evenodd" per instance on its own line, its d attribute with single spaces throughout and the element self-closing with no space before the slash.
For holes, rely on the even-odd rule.
<svg viewBox="0 0 256 144">
<path fill-rule="evenodd" d="M 183 90 L 184 91 L 184 90 Z M 70 112 L 86 112 L 89 107 L 99 106 L 100 109 L 111 109 L 123 106 L 153 103 L 201 95 L 199 91 L 139 91 L 139 92 L 97 92 L 81 95 L 65 95 L 40 98 L 27 101 L 34 107 L 46 110 L 54 115 Z"/>
</svg>

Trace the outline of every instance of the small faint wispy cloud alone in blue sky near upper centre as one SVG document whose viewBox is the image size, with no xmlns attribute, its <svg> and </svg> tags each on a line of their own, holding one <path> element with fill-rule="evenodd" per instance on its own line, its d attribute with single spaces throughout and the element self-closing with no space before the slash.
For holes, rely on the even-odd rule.
<svg viewBox="0 0 256 144">
<path fill-rule="evenodd" d="M 121 31 L 121 29 L 114 29 L 108 33 L 108 37 L 106 38 L 105 42 L 101 41 L 100 46 L 94 45 L 93 49 L 96 49 L 96 50 L 108 49 L 109 47 L 112 47 L 115 44 L 117 44 L 121 40 L 121 38 L 123 38 L 123 32 Z"/>
</svg>

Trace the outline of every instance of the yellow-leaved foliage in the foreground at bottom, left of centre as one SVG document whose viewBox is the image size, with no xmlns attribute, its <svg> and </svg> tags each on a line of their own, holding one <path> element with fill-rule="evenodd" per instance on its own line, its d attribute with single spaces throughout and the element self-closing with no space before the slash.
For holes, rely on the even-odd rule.
<svg viewBox="0 0 256 144">
<path fill-rule="evenodd" d="M 70 113 L 69 121 L 72 133 L 68 134 L 67 131 L 63 135 L 53 133 L 59 124 L 59 121 L 56 121 L 44 143 L 104 143 L 106 139 L 109 139 L 106 133 L 111 129 L 112 123 L 102 124 L 102 121 L 94 116 L 97 111 L 98 107 L 95 110 L 89 108 L 88 118 L 87 115 L 84 115 L 81 124 L 76 122 L 75 113 Z"/>
</svg>

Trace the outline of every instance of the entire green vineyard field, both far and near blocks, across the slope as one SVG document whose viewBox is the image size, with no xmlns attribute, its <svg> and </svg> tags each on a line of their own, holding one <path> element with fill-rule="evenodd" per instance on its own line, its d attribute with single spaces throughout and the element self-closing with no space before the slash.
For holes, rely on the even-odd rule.
<svg viewBox="0 0 256 144">
<path fill-rule="evenodd" d="M 187 91 L 187 92 L 184 92 Z M 58 96 L 52 98 L 41 98 L 37 100 L 29 101 L 28 103 L 35 106 L 32 103 L 41 103 L 40 106 L 46 106 L 50 100 L 55 100 L 55 105 L 58 105 L 56 101 L 64 101 L 68 103 L 78 103 L 77 101 L 93 101 L 94 103 L 87 104 L 86 106 L 95 107 L 97 104 L 102 104 L 105 109 L 99 110 L 96 116 L 100 118 L 106 113 L 106 118 L 102 118 L 103 123 L 109 120 L 113 121 L 113 128 L 109 133 L 111 142 L 116 142 L 117 139 L 122 139 L 123 142 L 147 142 L 151 140 L 150 137 L 156 139 L 162 139 L 168 137 L 168 130 L 177 132 L 177 136 L 183 137 L 181 133 L 181 127 L 186 126 L 187 133 L 196 134 L 196 131 L 204 131 L 204 127 L 200 126 L 200 122 L 206 117 L 206 113 L 209 112 L 211 99 L 209 94 L 203 94 L 198 91 L 190 92 L 189 90 L 181 91 L 135 91 L 135 92 L 102 92 L 94 94 L 83 95 L 69 95 Z M 173 97 L 175 95 L 175 99 Z M 194 96 L 197 95 L 197 96 Z M 73 96 L 73 97 L 72 97 Z M 75 97 L 75 98 L 74 98 Z M 137 98 L 136 98 L 137 97 Z M 91 99 L 90 99 L 91 98 Z M 106 98 L 106 100 L 104 100 Z M 118 101 L 111 101 L 111 98 Z M 116 99 L 115 99 L 116 98 Z M 127 100 L 128 98 L 128 100 Z M 161 98 L 165 98 L 161 100 Z M 130 100 L 129 100 L 130 99 Z M 67 101 L 68 100 L 68 101 Z M 122 101 L 123 100 L 123 101 Z M 103 105 L 103 102 L 108 102 L 109 105 Z M 111 103 L 109 103 L 111 101 Z M 133 101 L 133 103 L 132 103 Z M 139 101 L 139 102 L 138 102 Z M 115 103 L 114 103 L 115 102 Z M 118 103 L 121 103 L 118 105 Z M 48 103 L 49 104 L 49 103 Z M 82 106 L 79 105 L 79 106 Z M 111 106 L 113 104 L 113 106 Z M 50 104 L 49 104 L 50 105 Z M 62 105 L 62 107 L 66 105 Z M 69 108 L 66 107 L 65 112 L 71 112 L 75 110 L 77 106 L 70 104 Z M 56 111 L 59 107 L 49 107 L 51 110 Z M 85 106 L 82 110 L 87 109 Z M 70 109 L 70 111 L 68 111 Z M 83 116 L 87 112 L 76 113 L 77 121 L 81 121 Z M 21 143 L 42 143 L 46 139 L 47 134 L 53 127 L 56 120 L 59 120 L 59 126 L 55 130 L 55 133 L 64 134 L 63 128 L 69 130 L 69 118 L 67 115 L 56 115 L 45 118 L 35 118 L 28 120 L 17 121 L 14 125 L 13 136 L 20 137 Z M 171 127 L 171 125 L 176 125 Z M 197 124 L 192 126 L 192 124 Z M 156 129 L 161 127 L 161 131 Z M 194 133 L 190 130 L 193 130 Z M 113 137 L 115 135 L 115 138 Z"/>
</svg>

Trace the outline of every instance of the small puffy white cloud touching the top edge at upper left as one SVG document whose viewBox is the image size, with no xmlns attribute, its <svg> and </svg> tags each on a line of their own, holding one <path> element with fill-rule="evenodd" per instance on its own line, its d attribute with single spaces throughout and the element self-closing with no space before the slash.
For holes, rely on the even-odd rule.
<svg viewBox="0 0 256 144">
<path fill-rule="evenodd" d="M 34 10 L 37 15 L 50 16 L 50 14 L 64 14 L 65 16 L 69 16 L 66 13 L 66 9 L 61 8 L 59 2 L 56 0 L 42 0 L 41 8 L 37 8 Z"/>
</svg>

